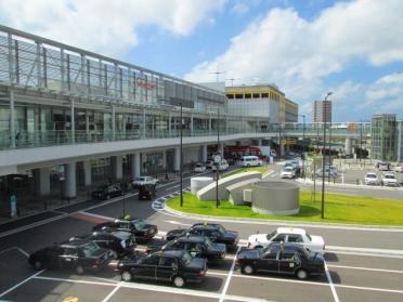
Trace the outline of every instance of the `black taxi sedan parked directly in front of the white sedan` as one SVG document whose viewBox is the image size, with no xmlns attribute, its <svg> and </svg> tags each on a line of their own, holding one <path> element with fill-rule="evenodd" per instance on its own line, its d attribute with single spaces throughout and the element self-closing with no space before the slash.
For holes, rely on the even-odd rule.
<svg viewBox="0 0 403 302">
<path fill-rule="evenodd" d="M 323 275 L 325 261 L 317 252 L 309 252 L 296 244 L 275 244 L 266 248 L 243 250 L 236 257 L 242 273 L 255 272 L 295 275 L 299 279 Z"/>
</svg>

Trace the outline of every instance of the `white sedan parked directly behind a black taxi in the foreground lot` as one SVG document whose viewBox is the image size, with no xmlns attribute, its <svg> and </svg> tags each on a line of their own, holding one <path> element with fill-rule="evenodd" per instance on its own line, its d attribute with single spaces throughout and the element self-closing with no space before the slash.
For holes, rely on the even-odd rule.
<svg viewBox="0 0 403 302">
<path fill-rule="evenodd" d="M 308 234 L 303 228 L 296 227 L 277 227 L 270 234 L 250 235 L 248 238 L 248 248 L 263 248 L 271 242 L 296 242 L 304 248 L 324 254 L 325 241 L 321 236 Z"/>
</svg>

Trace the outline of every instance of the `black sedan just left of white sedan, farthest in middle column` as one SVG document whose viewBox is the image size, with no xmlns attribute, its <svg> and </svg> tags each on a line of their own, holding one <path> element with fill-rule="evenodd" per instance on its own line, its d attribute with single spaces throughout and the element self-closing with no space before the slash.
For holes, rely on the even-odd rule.
<svg viewBox="0 0 403 302">
<path fill-rule="evenodd" d="M 196 223 L 191 228 L 178 228 L 167 233 L 166 239 L 172 240 L 178 237 L 190 235 L 206 236 L 211 241 L 224 244 L 226 250 L 236 250 L 239 242 L 239 235 L 235 231 L 226 231 L 221 224 L 216 223 Z"/>
</svg>

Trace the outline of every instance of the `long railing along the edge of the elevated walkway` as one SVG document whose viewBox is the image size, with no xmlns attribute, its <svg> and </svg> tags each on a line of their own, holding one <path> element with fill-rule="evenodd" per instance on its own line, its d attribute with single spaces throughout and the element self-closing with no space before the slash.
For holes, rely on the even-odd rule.
<svg viewBox="0 0 403 302">
<path fill-rule="evenodd" d="M 220 129 L 220 136 L 231 134 L 262 134 L 274 137 L 286 137 L 288 136 L 302 136 L 303 133 L 307 137 L 315 137 L 317 131 L 320 135 L 323 132 L 322 126 L 309 124 L 306 129 L 301 128 L 300 124 L 271 124 L 266 129 L 258 128 L 226 128 Z M 318 128 L 317 128 L 318 127 Z M 370 129 L 366 128 L 366 131 L 361 132 L 359 130 L 352 131 L 351 129 L 332 129 L 332 135 L 339 135 L 344 137 L 365 137 L 369 135 Z M 182 132 L 184 137 L 197 137 L 197 136 L 216 136 L 217 129 L 204 130 L 204 129 L 185 129 Z M 0 149 L 13 149 L 13 148 L 31 148 L 31 147 L 43 147 L 43 146 L 57 146 L 57 145 L 74 145 L 82 143 L 103 143 L 103 142 L 116 142 L 116 141 L 132 141 L 132 140 L 156 140 L 156 139 L 172 139 L 179 137 L 180 130 L 172 129 L 155 129 L 145 130 L 138 129 L 131 131 L 116 131 L 113 133 L 110 130 L 104 131 L 81 131 L 76 130 L 74 133 L 72 130 L 46 130 L 46 131 L 18 131 L 14 134 L 14 140 L 10 131 L 0 132 Z M 13 145 L 14 144 L 14 145 Z"/>
</svg>

